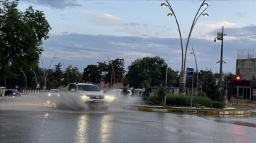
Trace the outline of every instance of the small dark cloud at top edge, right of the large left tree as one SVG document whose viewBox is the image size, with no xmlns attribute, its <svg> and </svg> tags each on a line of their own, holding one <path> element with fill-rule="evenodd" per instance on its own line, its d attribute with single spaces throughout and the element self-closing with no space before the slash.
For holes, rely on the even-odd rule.
<svg viewBox="0 0 256 143">
<path fill-rule="evenodd" d="M 51 8 L 63 9 L 67 7 L 81 6 L 76 3 L 76 0 L 22 0 L 28 1 L 33 4 L 38 4 L 42 6 L 50 6 Z"/>
</svg>

